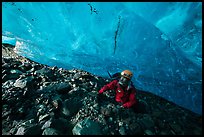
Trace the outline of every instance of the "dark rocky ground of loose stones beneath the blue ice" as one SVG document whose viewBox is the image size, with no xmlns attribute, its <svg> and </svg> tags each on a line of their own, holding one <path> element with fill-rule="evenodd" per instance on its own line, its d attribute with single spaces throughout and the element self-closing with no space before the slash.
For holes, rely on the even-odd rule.
<svg viewBox="0 0 204 137">
<path fill-rule="evenodd" d="M 89 72 L 49 67 L 2 45 L 2 135 L 201 135 L 202 116 L 145 91 L 138 112 L 123 109 L 110 82 Z"/>
</svg>

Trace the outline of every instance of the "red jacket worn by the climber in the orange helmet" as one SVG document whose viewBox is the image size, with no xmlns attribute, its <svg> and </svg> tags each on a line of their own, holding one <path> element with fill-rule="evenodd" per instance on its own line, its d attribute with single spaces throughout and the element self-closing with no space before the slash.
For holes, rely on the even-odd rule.
<svg viewBox="0 0 204 137">
<path fill-rule="evenodd" d="M 136 89 L 133 86 L 128 86 L 124 91 L 117 80 L 113 80 L 99 90 L 99 94 L 103 93 L 105 90 L 115 90 L 116 96 L 115 100 L 121 102 L 123 107 L 130 108 L 136 104 L 135 94 Z"/>
</svg>

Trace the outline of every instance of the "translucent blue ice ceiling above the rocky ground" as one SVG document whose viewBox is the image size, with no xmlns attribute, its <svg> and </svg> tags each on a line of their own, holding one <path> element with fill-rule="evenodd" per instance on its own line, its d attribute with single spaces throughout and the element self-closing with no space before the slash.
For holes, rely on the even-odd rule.
<svg viewBox="0 0 204 137">
<path fill-rule="evenodd" d="M 202 113 L 201 2 L 3 2 L 2 42 L 34 61 L 108 77 Z"/>
</svg>

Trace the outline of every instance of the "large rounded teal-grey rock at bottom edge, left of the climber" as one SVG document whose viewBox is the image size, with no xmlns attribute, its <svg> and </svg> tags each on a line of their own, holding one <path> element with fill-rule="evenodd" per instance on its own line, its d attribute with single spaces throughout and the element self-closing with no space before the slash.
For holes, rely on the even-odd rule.
<svg viewBox="0 0 204 137">
<path fill-rule="evenodd" d="M 85 118 L 74 126 L 72 133 L 73 135 L 101 135 L 101 130 L 98 123 Z"/>
</svg>

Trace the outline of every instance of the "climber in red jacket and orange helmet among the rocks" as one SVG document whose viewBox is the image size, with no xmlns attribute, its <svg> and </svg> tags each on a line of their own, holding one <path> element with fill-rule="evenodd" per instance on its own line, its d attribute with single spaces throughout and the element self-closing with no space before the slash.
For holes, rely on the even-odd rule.
<svg viewBox="0 0 204 137">
<path fill-rule="evenodd" d="M 113 80 L 99 90 L 99 95 L 106 90 L 115 90 L 115 100 L 122 103 L 121 107 L 130 108 L 136 105 L 136 89 L 131 84 L 133 73 L 129 70 L 121 72 L 119 80 Z"/>
</svg>

